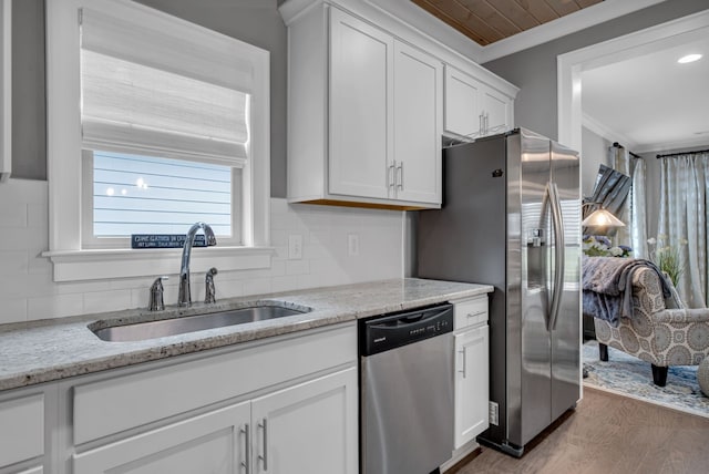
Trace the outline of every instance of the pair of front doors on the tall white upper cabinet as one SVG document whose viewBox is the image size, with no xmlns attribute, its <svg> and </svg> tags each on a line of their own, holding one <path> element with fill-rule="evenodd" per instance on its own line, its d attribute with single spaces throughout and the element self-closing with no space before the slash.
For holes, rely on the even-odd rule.
<svg viewBox="0 0 709 474">
<path fill-rule="evenodd" d="M 330 10 L 331 195 L 441 204 L 443 64 Z"/>
</svg>

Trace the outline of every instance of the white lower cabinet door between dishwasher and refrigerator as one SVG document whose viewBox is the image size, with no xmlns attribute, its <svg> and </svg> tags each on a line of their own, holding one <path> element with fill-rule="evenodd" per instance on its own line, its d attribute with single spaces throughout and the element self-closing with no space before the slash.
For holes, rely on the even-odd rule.
<svg viewBox="0 0 709 474">
<path fill-rule="evenodd" d="M 489 400 L 487 326 L 455 336 L 455 449 L 487 429 Z"/>
</svg>

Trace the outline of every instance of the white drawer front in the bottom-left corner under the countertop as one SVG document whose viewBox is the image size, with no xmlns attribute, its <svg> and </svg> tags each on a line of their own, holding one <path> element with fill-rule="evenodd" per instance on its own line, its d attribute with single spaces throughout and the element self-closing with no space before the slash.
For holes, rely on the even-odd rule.
<svg viewBox="0 0 709 474">
<path fill-rule="evenodd" d="M 0 467 L 44 454 L 44 395 L 0 402 Z"/>
</svg>

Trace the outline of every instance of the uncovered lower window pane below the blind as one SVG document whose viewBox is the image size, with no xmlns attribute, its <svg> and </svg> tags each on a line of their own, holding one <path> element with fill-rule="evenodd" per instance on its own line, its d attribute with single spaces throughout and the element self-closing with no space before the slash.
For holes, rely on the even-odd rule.
<svg viewBox="0 0 709 474">
<path fill-rule="evenodd" d="M 110 152 L 89 152 L 84 166 L 93 188 L 83 214 L 86 239 L 184 234 L 197 220 L 209 223 L 219 240 L 239 235 L 229 166 Z"/>
</svg>

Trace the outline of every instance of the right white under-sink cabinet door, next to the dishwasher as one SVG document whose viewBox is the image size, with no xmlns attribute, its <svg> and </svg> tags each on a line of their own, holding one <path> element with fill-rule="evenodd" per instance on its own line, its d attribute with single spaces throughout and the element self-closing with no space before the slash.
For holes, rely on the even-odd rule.
<svg viewBox="0 0 709 474">
<path fill-rule="evenodd" d="M 254 472 L 356 474 L 357 369 L 253 401 Z"/>
</svg>

